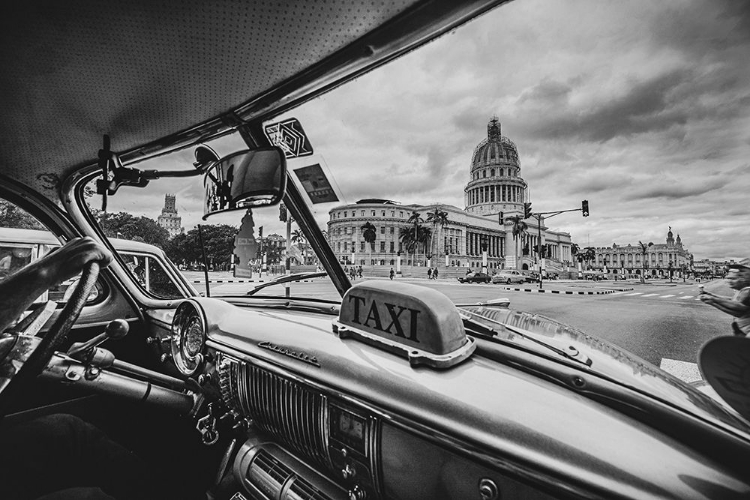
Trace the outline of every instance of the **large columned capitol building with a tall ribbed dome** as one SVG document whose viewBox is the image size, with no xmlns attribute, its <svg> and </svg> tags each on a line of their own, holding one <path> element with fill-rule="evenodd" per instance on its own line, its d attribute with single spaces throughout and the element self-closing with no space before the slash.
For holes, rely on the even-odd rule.
<svg viewBox="0 0 750 500">
<path fill-rule="evenodd" d="M 441 273 L 486 267 L 490 274 L 540 266 L 560 273 L 574 266 L 569 233 L 551 230 L 544 217 L 523 220 L 524 203 L 531 201 L 528 186 L 521 177 L 518 149 L 502 135 L 497 118 L 490 120 L 487 137 L 474 148 L 468 170 L 463 208 L 364 199 L 331 209 L 328 239 L 339 262 L 394 269 L 429 266 Z M 444 215 L 438 218 L 436 214 Z M 410 249 L 401 234 L 413 229 L 415 216 L 430 230 L 430 238 Z M 515 238 L 513 217 L 527 226 Z"/>
</svg>

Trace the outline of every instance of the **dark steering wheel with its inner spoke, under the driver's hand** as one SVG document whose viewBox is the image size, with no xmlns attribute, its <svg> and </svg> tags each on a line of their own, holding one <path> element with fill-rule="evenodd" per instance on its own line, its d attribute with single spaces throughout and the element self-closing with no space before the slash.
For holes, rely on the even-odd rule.
<svg viewBox="0 0 750 500">
<path fill-rule="evenodd" d="M 44 337 L 22 334 L 0 337 L 0 416 L 5 415 L 8 403 L 44 370 L 65 342 L 98 277 L 99 263 L 87 263 L 75 291 Z"/>
</svg>

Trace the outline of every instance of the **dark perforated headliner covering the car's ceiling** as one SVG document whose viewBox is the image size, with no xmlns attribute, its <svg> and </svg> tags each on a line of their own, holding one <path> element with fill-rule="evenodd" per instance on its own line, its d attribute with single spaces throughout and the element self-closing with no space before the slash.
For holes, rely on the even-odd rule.
<svg viewBox="0 0 750 500">
<path fill-rule="evenodd" d="M 0 172 L 57 201 L 103 135 L 127 163 L 278 115 L 503 0 L 29 0 L 0 25 Z"/>
</svg>

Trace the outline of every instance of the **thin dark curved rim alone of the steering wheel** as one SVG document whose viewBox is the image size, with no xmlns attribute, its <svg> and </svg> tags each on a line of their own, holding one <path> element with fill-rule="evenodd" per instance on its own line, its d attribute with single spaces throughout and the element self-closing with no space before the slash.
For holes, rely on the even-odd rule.
<svg viewBox="0 0 750 500">
<path fill-rule="evenodd" d="M 20 389 L 44 370 L 57 348 L 68 338 L 68 333 L 78 320 L 78 316 L 86 305 L 86 299 L 94 288 L 98 277 L 99 263 L 87 263 L 81 272 L 81 279 L 78 281 L 75 291 L 50 327 L 47 335 L 42 337 L 33 352 L 25 358 L 25 361 L 16 358 L 16 365 L 20 363 L 20 368 L 15 374 L 10 375 L 12 378 L 7 386 L 4 389 L 0 388 L 0 416 L 5 415 L 8 402 L 12 401 Z"/>
</svg>

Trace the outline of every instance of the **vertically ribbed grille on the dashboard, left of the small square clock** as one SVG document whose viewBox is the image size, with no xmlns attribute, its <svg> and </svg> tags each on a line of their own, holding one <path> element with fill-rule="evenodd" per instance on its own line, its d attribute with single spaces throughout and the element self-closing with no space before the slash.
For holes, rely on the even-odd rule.
<svg viewBox="0 0 750 500">
<path fill-rule="evenodd" d="M 327 465 L 321 394 L 232 358 L 225 357 L 219 367 L 228 406 L 297 453 Z"/>
</svg>

